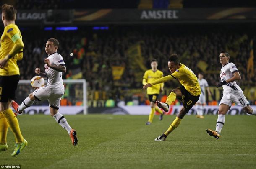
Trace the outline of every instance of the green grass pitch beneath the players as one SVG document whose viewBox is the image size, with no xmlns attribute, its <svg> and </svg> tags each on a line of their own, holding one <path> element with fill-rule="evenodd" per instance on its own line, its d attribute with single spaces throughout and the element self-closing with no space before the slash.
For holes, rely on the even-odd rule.
<svg viewBox="0 0 256 169">
<path fill-rule="evenodd" d="M 29 142 L 11 157 L 14 136 L 8 131 L 8 151 L 0 153 L 0 164 L 21 164 L 23 169 L 155 169 L 155 168 L 255 168 L 256 117 L 226 116 L 222 137 L 206 134 L 215 129 L 217 116 L 205 119 L 185 116 L 166 141 L 154 141 L 175 116 L 162 121 L 132 115 L 66 115 L 78 133 L 72 146 L 68 133 L 50 115 L 18 116 Z"/>
</svg>

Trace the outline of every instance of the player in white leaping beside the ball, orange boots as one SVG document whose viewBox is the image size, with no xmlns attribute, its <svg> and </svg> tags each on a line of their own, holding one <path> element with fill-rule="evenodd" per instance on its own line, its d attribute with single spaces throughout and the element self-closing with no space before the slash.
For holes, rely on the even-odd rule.
<svg viewBox="0 0 256 169">
<path fill-rule="evenodd" d="M 57 39 L 48 39 L 45 46 L 45 51 L 48 54 L 48 58 L 44 60 L 45 73 L 41 72 L 39 68 L 35 69 L 36 74 L 47 79 L 47 85 L 36 89 L 33 93 L 30 93 L 21 105 L 18 105 L 13 100 L 12 107 L 17 113 L 22 113 L 22 111 L 30 107 L 35 100 L 48 100 L 51 116 L 57 121 L 57 123 L 68 131 L 73 145 L 76 146 L 78 142 L 76 131 L 70 127 L 65 117 L 58 112 L 60 100 L 64 94 L 62 72 L 66 72 L 65 62 L 63 61 L 62 56 L 57 53 L 58 47 L 59 42 Z"/>
</svg>

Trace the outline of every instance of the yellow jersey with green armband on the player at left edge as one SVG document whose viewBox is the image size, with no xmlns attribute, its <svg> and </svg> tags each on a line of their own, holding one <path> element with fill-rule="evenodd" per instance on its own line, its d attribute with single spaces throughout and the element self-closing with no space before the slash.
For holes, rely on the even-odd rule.
<svg viewBox="0 0 256 169">
<path fill-rule="evenodd" d="M 3 34 L 1 36 L 1 48 L 0 48 L 0 60 L 4 59 L 7 54 L 13 49 L 14 43 L 17 40 L 17 38 L 21 38 L 21 31 L 18 29 L 18 26 L 15 24 L 10 24 L 5 27 Z M 17 65 L 17 59 L 21 60 L 23 57 L 22 50 L 10 58 L 3 67 L 3 69 L 0 69 L 0 76 L 12 76 L 20 74 L 18 65 Z"/>
</svg>

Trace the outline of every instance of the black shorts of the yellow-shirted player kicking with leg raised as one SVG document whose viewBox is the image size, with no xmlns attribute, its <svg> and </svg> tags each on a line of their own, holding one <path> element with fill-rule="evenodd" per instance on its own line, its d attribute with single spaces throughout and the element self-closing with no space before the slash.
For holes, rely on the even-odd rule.
<svg viewBox="0 0 256 169">
<path fill-rule="evenodd" d="M 188 113 L 188 111 L 193 107 L 193 105 L 196 104 L 196 102 L 199 100 L 200 95 L 193 96 L 191 95 L 188 90 L 185 89 L 184 86 L 178 87 L 182 93 L 181 100 L 183 101 L 183 106 L 185 108 L 185 112 Z"/>
</svg>

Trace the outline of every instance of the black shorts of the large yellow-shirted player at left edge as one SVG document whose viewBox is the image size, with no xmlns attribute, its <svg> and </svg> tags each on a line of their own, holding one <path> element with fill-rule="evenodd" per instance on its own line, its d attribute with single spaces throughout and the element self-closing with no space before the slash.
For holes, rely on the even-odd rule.
<svg viewBox="0 0 256 169">
<path fill-rule="evenodd" d="M 0 102 L 14 100 L 20 75 L 0 76 Z"/>
</svg>

